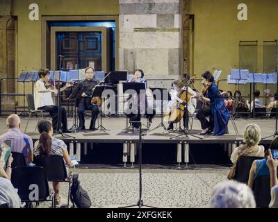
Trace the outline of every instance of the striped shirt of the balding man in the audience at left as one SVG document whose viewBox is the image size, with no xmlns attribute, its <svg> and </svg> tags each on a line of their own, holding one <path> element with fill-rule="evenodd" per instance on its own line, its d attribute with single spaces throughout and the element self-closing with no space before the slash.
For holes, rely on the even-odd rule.
<svg viewBox="0 0 278 222">
<path fill-rule="evenodd" d="M 17 128 L 12 128 L 0 136 L 0 143 L 10 140 L 10 149 L 12 152 L 22 153 L 28 164 L 29 152 L 33 153 L 33 140 L 28 135 L 20 132 Z"/>
</svg>

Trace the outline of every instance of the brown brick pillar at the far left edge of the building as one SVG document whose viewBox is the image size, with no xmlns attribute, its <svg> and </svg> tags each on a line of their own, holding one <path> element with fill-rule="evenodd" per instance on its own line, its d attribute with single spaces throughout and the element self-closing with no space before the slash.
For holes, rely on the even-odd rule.
<svg viewBox="0 0 278 222">
<path fill-rule="evenodd" d="M 0 0 L 0 76 L 15 77 L 15 19 L 10 16 L 11 0 Z M 2 82 L 2 93 L 15 92 L 15 80 Z M 14 110 L 15 97 L 2 97 L 2 110 Z"/>
</svg>

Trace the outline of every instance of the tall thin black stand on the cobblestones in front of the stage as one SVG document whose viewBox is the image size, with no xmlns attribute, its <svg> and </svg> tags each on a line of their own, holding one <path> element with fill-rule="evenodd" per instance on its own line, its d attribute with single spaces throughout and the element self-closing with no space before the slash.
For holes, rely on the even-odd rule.
<svg viewBox="0 0 278 222">
<path fill-rule="evenodd" d="M 119 207 L 119 208 L 129 208 L 129 207 L 151 207 L 151 208 L 156 208 L 152 207 L 149 205 L 144 205 L 143 200 L 142 200 L 142 140 L 143 140 L 143 134 L 142 134 L 142 123 L 140 121 L 133 121 L 133 123 L 140 123 L 139 127 L 139 142 L 138 142 L 138 163 L 139 163 L 139 200 L 137 204 L 135 205 L 129 205 L 125 207 Z"/>
</svg>

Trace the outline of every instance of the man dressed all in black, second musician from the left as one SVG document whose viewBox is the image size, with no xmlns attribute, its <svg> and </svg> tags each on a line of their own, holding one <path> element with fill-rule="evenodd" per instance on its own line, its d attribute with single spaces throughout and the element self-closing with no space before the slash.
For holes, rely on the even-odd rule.
<svg viewBox="0 0 278 222">
<path fill-rule="evenodd" d="M 97 115 L 99 114 L 99 107 L 97 104 L 91 103 L 92 89 L 97 85 L 95 69 L 87 67 L 85 69 L 85 74 L 87 78 L 76 85 L 76 89 L 80 92 L 80 95 L 76 98 L 77 112 L 79 115 L 79 130 L 85 130 L 85 110 L 92 110 L 89 130 L 96 130 L 95 122 L 97 121 Z"/>
</svg>

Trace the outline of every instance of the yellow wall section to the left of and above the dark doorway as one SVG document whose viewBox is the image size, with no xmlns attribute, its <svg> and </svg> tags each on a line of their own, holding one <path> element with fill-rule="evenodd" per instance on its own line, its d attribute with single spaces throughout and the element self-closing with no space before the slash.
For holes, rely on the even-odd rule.
<svg viewBox="0 0 278 222">
<path fill-rule="evenodd" d="M 28 19 L 31 3 L 39 6 L 39 21 Z M 42 66 L 42 15 L 119 15 L 118 0 L 13 0 L 12 15 L 17 16 L 16 76 Z M 30 87 L 27 86 L 27 89 Z M 18 85 L 22 91 L 22 85 Z"/>
</svg>

